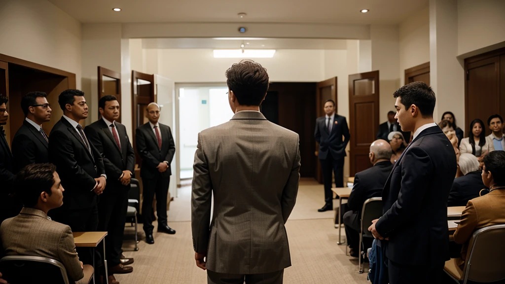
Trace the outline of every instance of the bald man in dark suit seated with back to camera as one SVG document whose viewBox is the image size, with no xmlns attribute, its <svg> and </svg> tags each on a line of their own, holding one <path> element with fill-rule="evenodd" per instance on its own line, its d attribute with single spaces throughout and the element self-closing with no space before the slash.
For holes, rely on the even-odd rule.
<svg viewBox="0 0 505 284">
<path fill-rule="evenodd" d="M 343 216 L 345 235 L 347 236 L 351 256 L 359 256 L 357 250 L 360 241 L 359 232 L 361 230 L 363 204 L 369 198 L 381 196 L 382 188 L 393 168 L 390 161 L 391 154 L 391 147 L 386 140 L 375 140 L 370 146 L 370 153 L 368 154 L 373 167 L 355 175 L 354 186 L 352 186 L 347 201 L 347 207 L 350 211 L 345 212 Z"/>
</svg>

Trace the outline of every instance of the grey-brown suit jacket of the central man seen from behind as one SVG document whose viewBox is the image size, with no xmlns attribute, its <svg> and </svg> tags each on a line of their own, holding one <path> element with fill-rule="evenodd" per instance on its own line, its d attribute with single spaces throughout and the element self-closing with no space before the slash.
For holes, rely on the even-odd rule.
<svg viewBox="0 0 505 284">
<path fill-rule="evenodd" d="M 298 192 L 298 142 L 260 112 L 238 112 L 198 134 L 191 228 L 207 269 L 258 274 L 291 265 L 284 223 Z"/>
</svg>

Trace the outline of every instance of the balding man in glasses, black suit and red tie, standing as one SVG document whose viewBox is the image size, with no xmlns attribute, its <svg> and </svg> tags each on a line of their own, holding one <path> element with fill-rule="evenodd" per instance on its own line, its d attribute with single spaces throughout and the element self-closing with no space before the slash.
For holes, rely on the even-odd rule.
<svg viewBox="0 0 505 284">
<path fill-rule="evenodd" d="M 158 231 L 174 234 L 175 230 L 167 225 L 167 195 L 172 170 L 170 163 L 174 158 L 175 144 L 170 127 L 158 122 L 160 106 L 157 103 L 147 105 L 146 117 L 149 122 L 140 125 L 135 131 L 137 153 L 142 158 L 140 176 L 143 185 L 142 216 L 144 218 L 145 242 L 154 244 L 153 198 L 156 194 L 158 212 Z"/>
</svg>

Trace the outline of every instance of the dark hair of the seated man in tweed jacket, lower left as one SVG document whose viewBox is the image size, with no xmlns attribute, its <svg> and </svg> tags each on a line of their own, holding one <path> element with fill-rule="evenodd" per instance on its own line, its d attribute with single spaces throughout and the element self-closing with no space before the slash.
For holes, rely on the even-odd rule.
<svg viewBox="0 0 505 284">
<path fill-rule="evenodd" d="M 16 194 L 25 207 L 34 207 L 42 192 L 51 196 L 55 171 L 56 166 L 53 164 L 31 164 L 16 175 Z"/>
</svg>

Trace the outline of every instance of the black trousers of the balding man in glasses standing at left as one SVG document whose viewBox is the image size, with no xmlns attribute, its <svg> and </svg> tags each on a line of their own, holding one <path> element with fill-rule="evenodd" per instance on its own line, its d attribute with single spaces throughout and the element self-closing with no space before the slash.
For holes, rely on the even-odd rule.
<svg viewBox="0 0 505 284">
<path fill-rule="evenodd" d="M 153 199 L 156 194 L 156 211 L 158 215 L 158 225 L 167 224 L 167 195 L 168 186 L 170 185 L 170 176 L 164 177 L 157 174 L 155 178 L 148 179 L 142 177 L 143 201 L 142 201 L 142 217 L 144 219 L 144 232 L 152 233 L 153 218 L 151 211 L 153 210 Z"/>
</svg>

